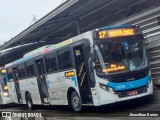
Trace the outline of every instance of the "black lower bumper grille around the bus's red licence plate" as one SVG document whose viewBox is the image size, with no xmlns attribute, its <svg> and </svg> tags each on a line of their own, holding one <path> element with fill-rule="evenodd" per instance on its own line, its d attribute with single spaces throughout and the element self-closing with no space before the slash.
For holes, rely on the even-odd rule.
<svg viewBox="0 0 160 120">
<path fill-rule="evenodd" d="M 132 89 L 132 90 L 127 90 L 127 91 L 121 91 L 121 92 L 116 92 L 116 94 L 118 95 L 119 98 L 123 98 L 123 97 L 128 97 L 129 96 L 129 92 L 137 90 L 138 94 L 142 94 L 142 93 L 146 93 L 147 92 L 147 86 L 143 86 L 143 87 L 139 87 L 136 89 Z M 133 95 L 134 96 L 134 95 Z"/>
</svg>

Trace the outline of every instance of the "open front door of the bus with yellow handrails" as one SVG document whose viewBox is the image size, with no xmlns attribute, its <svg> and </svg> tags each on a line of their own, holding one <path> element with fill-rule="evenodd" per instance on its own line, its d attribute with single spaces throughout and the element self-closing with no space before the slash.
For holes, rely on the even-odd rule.
<svg viewBox="0 0 160 120">
<path fill-rule="evenodd" d="M 87 59 L 85 56 L 85 50 L 83 45 L 79 45 L 73 48 L 77 80 L 80 90 L 80 96 L 82 104 L 91 104 L 91 90 L 89 86 L 89 72 L 87 69 Z"/>
</svg>

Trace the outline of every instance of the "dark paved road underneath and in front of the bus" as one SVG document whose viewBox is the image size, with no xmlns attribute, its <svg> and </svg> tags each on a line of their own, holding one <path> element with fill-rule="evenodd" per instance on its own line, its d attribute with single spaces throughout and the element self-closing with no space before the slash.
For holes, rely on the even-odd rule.
<svg viewBox="0 0 160 120">
<path fill-rule="evenodd" d="M 71 111 L 66 106 L 56 106 L 56 107 L 48 107 L 48 106 L 36 106 L 35 110 L 27 111 L 25 106 L 14 106 L 12 108 L 3 108 L 1 111 L 19 111 L 19 112 L 38 112 L 41 113 L 43 116 L 48 117 L 56 117 L 56 119 L 72 119 L 72 120 L 79 120 L 82 117 L 87 120 L 92 120 L 93 117 L 96 120 L 109 119 L 119 120 L 119 119 L 127 119 L 120 118 L 124 116 L 129 116 L 130 114 L 141 114 L 145 115 L 150 113 L 150 115 L 158 114 L 160 117 L 160 90 L 156 90 L 154 95 L 151 97 L 140 98 L 136 100 L 130 100 L 125 102 L 120 102 L 116 104 L 105 105 L 102 107 L 84 107 L 84 111 L 81 113 L 76 113 Z M 57 118 L 58 117 L 58 118 Z M 66 118 L 68 117 L 68 118 Z M 116 118 L 115 118 L 116 117 Z M 155 117 L 154 119 L 157 120 L 160 118 Z M 44 119 L 44 118 L 43 118 Z M 135 119 L 135 117 L 131 117 L 130 119 Z M 150 119 L 150 117 L 143 117 L 142 119 Z M 153 120 L 154 120 L 153 119 Z"/>
</svg>

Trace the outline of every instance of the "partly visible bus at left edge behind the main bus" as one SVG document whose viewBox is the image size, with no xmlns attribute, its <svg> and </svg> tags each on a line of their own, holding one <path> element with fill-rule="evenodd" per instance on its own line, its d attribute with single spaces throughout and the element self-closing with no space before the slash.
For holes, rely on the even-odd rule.
<svg viewBox="0 0 160 120">
<path fill-rule="evenodd" d="M 0 105 L 11 103 L 8 93 L 8 86 L 6 81 L 6 70 L 0 68 Z"/>
</svg>

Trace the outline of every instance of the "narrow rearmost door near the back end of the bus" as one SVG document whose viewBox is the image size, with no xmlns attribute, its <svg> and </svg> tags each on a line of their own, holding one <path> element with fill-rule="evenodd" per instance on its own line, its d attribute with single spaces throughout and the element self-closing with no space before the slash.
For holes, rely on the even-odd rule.
<svg viewBox="0 0 160 120">
<path fill-rule="evenodd" d="M 16 90 L 16 94 L 17 94 L 18 103 L 21 103 L 22 102 L 22 96 L 21 96 L 21 90 L 20 90 L 20 87 L 19 87 L 18 71 L 17 71 L 16 67 L 13 68 L 13 81 L 14 81 L 14 84 L 15 84 L 15 90 Z"/>
</svg>

